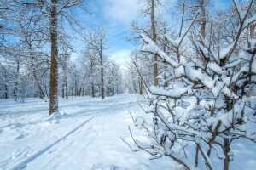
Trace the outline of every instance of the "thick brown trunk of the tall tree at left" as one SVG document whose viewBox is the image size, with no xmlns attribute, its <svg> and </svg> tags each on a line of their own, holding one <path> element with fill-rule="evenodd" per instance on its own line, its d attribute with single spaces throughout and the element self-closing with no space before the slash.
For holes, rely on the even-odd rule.
<svg viewBox="0 0 256 170">
<path fill-rule="evenodd" d="M 49 81 L 49 115 L 58 112 L 58 48 L 57 48 L 57 0 L 51 0 L 52 8 L 50 11 L 50 81 Z"/>
</svg>

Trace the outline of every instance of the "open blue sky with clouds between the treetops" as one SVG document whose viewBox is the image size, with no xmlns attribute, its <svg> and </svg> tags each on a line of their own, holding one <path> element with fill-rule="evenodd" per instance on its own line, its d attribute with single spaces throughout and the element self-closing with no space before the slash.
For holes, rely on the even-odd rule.
<svg viewBox="0 0 256 170">
<path fill-rule="evenodd" d="M 166 6 L 171 7 L 171 3 L 177 0 L 165 1 Z M 214 2 L 218 8 L 224 8 L 232 1 L 215 0 Z M 88 9 L 91 14 L 78 12 L 78 18 L 86 28 L 107 27 L 109 48 L 105 53 L 110 55 L 111 59 L 117 63 L 124 64 L 130 59 L 131 50 L 135 48 L 133 42 L 126 41 L 126 37 L 130 35 L 131 21 L 137 20 L 140 5 L 138 0 L 85 0 L 84 8 Z M 166 18 L 168 17 L 171 16 L 166 14 Z M 83 48 L 84 43 L 78 40 L 75 47 Z"/>
</svg>

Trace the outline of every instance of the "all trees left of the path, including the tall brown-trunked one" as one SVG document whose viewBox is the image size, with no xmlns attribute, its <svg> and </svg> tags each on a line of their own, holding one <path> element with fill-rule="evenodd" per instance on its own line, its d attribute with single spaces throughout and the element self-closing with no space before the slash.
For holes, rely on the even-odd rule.
<svg viewBox="0 0 256 170">
<path fill-rule="evenodd" d="M 108 59 L 106 29 L 83 34 L 73 8 L 83 0 L 0 2 L 0 98 L 49 99 L 49 115 L 58 112 L 58 94 L 111 96 L 123 91 L 119 65 Z M 71 59 L 75 31 L 84 40 Z M 73 60 L 73 61 L 72 61 Z"/>
</svg>

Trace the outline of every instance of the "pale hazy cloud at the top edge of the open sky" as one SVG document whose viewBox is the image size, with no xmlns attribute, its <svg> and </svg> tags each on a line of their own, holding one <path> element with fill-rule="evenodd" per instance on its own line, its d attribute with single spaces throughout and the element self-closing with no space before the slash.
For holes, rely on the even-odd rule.
<svg viewBox="0 0 256 170">
<path fill-rule="evenodd" d="M 104 0 L 103 7 L 106 20 L 125 26 L 137 18 L 137 0 Z"/>
</svg>

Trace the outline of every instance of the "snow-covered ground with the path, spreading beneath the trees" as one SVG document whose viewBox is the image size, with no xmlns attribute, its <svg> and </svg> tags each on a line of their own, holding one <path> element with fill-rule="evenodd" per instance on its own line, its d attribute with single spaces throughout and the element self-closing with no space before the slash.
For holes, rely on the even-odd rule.
<svg viewBox="0 0 256 170">
<path fill-rule="evenodd" d="M 143 115 L 139 101 L 136 94 L 60 99 L 61 116 L 49 117 L 49 103 L 40 99 L 0 100 L 0 169 L 177 169 L 174 161 L 149 160 L 121 140 L 132 144 L 128 125 L 145 139 L 128 113 Z M 255 145 L 233 144 L 230 169 L 254 169 Z"/>
</svg>

